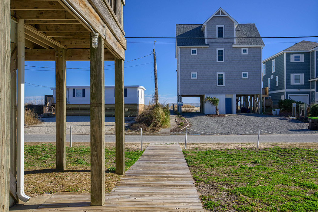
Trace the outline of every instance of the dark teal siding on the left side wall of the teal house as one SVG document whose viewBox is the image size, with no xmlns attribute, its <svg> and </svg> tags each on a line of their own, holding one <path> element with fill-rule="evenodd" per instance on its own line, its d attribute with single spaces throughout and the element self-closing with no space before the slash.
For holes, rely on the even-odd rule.
<svg viewBox="0 0 318 212">
<path fill-rule="evenodd" d="M 275 72 L 272 73 L 272 60 L 275 60 Z M 263 76 L 263 88 L 268 87 L 268 78 L 273 75 L 271 79 L 271 91 L 277 91 L 285 89 L 285 65 L 284 65 L 284 54 L 280 54 L 275 58 L 272 58 L 263 64 L 265 65 L 266 75 Z M 278 76 L 278 86 L 276 86 L 276 76 Z"/>
</svg>

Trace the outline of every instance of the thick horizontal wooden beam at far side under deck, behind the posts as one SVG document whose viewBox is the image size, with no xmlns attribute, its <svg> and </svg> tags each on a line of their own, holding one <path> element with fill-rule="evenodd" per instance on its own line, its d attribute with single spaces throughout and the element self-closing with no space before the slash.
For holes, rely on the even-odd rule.
<svg viewBox="0 0 318 212">
<path fill-rule="evenodd" d="M 112 52 L 105 49 L 105 61 L 114 61 Z M 26 49 L 25 61 L 55 61 L 54 49 Z M 66 61 L 88 61 L 90 60 L 89 49 L 67 49 Z"/>
</svg>

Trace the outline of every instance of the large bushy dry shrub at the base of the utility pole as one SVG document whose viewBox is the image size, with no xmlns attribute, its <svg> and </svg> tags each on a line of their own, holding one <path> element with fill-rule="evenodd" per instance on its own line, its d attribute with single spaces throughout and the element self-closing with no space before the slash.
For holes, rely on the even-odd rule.
<svg viewBox="0 0 318 212">
<path fill-rule="evenodd" d="M 142 128 L 144 132 L 157 132 L 161 128 L 170 127 L 170 112 L 168 106 L 161 104 L 145 107 L 142 113 L 130 125 L 131 130 Z"/>
</svg>

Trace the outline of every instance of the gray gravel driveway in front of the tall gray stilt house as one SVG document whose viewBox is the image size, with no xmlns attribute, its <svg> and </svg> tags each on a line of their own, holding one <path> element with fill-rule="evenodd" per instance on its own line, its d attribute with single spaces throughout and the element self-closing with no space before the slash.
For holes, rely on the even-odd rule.
<svg viewBox="0 0 318 212">
<path fill-rule="evenodd" d="M 212 134 L 257 134 L 259 128 L 277 134 L 318 134 L 318 131 L 307 128 L 308 123 L 281 116 L 255 113 L 230 114 L 225 117 L 211 117 L 203 113 L 183 113 L 182 115 L 192 125 L 191 129 Z M 199 134 L 191 130 L 189 133 Z M 262 131 L 261 133 L 270 134 Z"/>
</svg>

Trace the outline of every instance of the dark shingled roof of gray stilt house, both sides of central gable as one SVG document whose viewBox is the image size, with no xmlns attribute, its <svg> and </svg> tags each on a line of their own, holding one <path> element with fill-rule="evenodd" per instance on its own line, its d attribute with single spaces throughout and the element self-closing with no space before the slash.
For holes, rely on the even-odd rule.
<svg viewBox="0 0 318 212">
<path fill-rule="evenodd" d="M 176 24 L 177 46 L 208 46 L 209 44 L 205 44 L 205 39 L 195 39 L 204 38 L 204 34 L 203 31 L 201 31 L 201 28 L 202 24 Z M 262 38 L 260 38 L 259 31 L 257 30 L 255 24 L 238 24 L 235 30 L 237 39 L 236 44 L 233 45 L 265 45 Z"/>
</svg>

